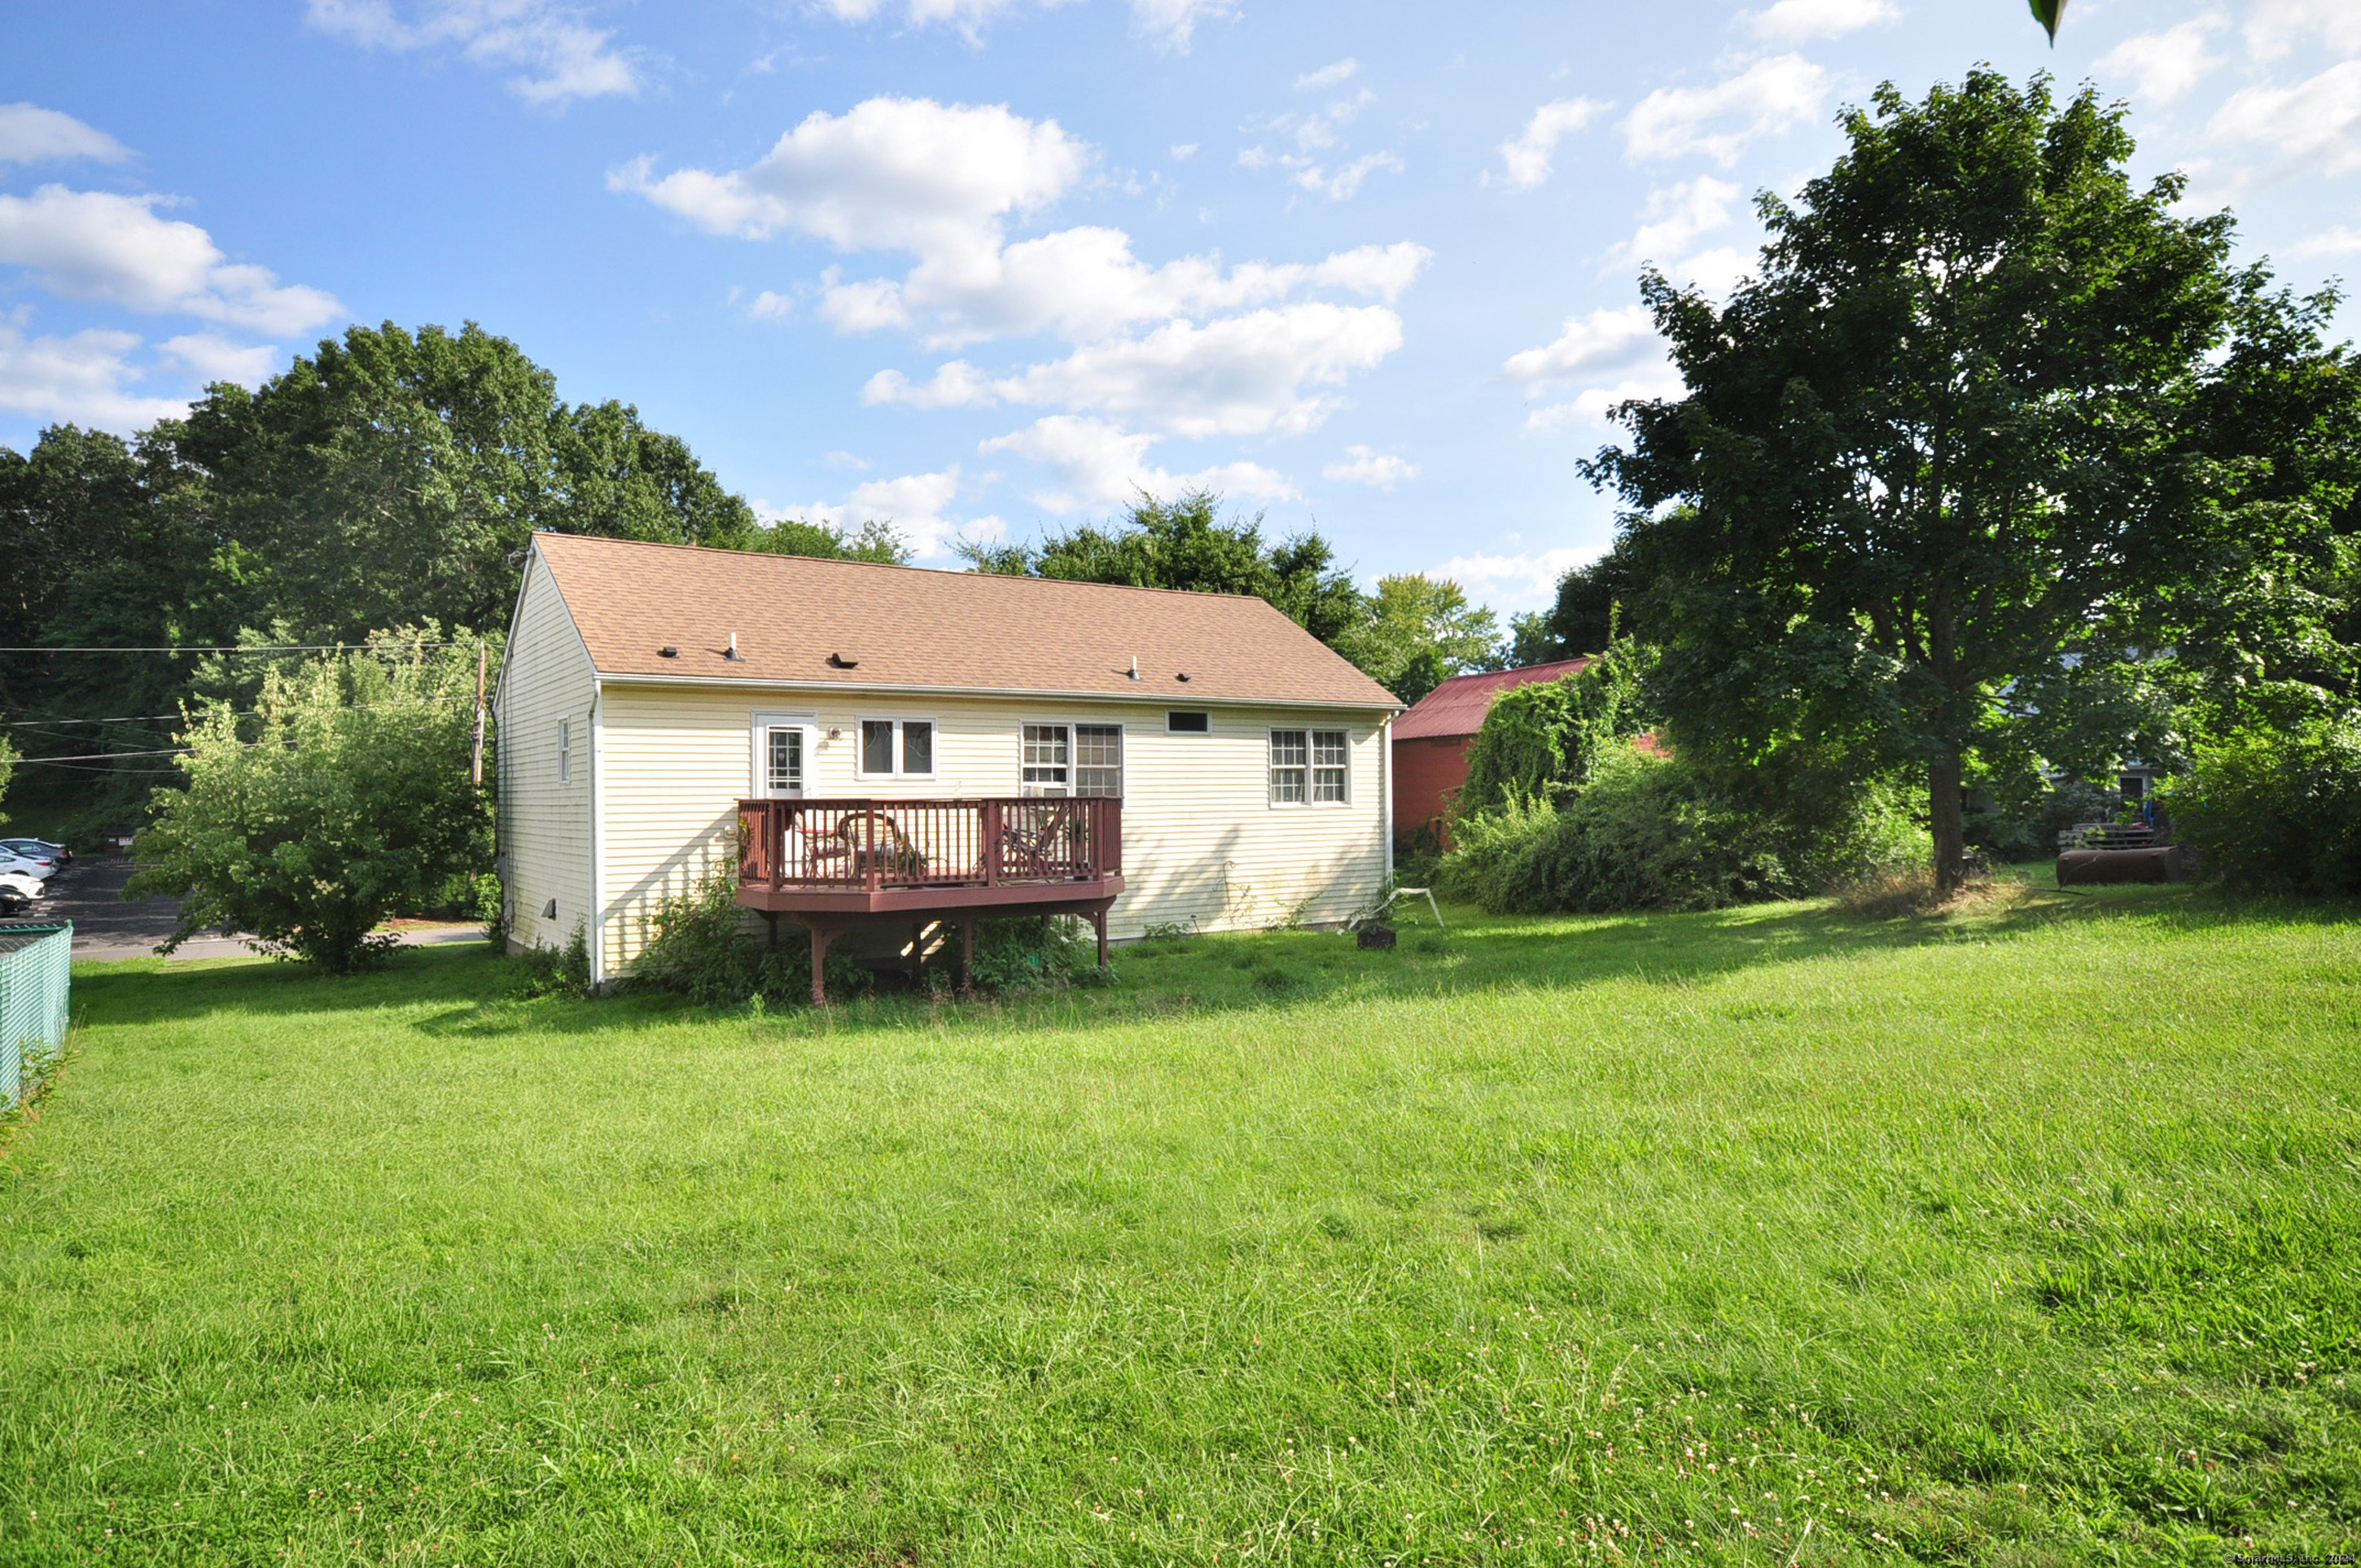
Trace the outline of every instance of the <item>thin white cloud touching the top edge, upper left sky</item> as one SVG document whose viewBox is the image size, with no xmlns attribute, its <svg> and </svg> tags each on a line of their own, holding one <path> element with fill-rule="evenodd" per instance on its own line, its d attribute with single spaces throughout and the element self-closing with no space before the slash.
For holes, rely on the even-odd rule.
<svg viewBox="0 0 2361 1568">
<path fill-rule="evenodd" d="M 366 50 L 458 47 L 479 66 L 515 66 L 508 90 L 527 104 L 640 92 L 640 61 L 611 28 L 552 0 L 427 0 L 413 19 L 392 0 L 312 0 L 307 21 Z"/>
</svg>

